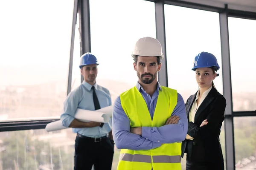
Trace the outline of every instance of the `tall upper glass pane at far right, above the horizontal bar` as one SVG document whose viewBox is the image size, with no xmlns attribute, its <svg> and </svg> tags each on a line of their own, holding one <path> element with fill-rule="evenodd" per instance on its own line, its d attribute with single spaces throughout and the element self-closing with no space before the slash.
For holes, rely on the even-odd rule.
<svg viewBox="0 0 256 170">
<path fill-rule="evenodd" d="M 256 20 L 228 18 L 233 111 L 256 110 Z"/>
</svg>

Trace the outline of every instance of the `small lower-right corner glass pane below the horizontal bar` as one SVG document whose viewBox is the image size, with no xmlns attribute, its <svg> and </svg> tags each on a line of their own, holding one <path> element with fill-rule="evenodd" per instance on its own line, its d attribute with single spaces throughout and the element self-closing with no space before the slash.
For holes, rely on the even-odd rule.
<svg viewBox="0 0 256 170">
<path fill-rule="evenodd" d="M 234 117 L 236 170 L 256 169 L 256 116 Z"/>
</svg>

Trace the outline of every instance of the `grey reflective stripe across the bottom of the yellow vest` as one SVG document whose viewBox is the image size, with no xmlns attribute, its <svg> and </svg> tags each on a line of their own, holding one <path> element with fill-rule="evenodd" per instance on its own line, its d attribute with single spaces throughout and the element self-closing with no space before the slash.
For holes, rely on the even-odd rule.
<svg viewBox="0 0 256 170">
<path fill-rule="evenodd" d="M 157 155 L 152 156 L 154 163 L 180 163 L 181 156 L 168 156 L 168 155 Z M 129 153 L 120 153 L 120 161 L 131 161 L 131 162 L 145 162 L 151 163 L 151 156 L 149 155 L 140 155 L 140 154 L 129 154 Z"/>
</svg>

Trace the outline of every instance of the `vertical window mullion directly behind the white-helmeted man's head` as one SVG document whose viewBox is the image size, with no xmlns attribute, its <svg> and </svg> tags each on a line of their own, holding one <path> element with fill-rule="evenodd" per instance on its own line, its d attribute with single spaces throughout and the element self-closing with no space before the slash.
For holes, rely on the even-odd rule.
<svg viewBox="0 0 256 170">
<path fill-rule="evenodd" d="M 162 50 L 164 55 L 164 58 L 162 59 L 162 68 L 158 72 L 158 81 L 160 85 L 168 87 L 167 59 L 166 59 L 166 34 L 165 34 L 165 18 L 164 18 L 163 0 L 159 0 L 155 3 L 155 17 L 156 17 L 157 40 L 162 45 Z"/>
</svg>

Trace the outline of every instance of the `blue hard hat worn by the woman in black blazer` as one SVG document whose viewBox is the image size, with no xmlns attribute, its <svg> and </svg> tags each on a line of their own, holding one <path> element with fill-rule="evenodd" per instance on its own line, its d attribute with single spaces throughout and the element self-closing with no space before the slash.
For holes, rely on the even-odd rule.
<svg viewBox="0 0 256 170">
<path fill-rule="evenodd" d="M 195 71 L 197 68 L 213 67 L 215 71 L 220 69 L 216 57 L 208 52 L 201 52 L 195 56 L 192 70 Z"/>
</svg>

